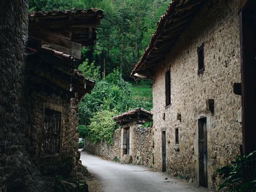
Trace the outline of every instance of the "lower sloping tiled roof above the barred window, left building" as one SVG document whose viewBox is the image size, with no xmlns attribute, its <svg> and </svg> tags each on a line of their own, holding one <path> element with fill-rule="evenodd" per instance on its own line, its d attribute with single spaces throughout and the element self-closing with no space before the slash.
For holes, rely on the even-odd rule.
<svg viewBox="0 0 256 192">
<path fill-rule="evenodd" d="M 49 45 L 42 45 L 41 39 L 29 38 L 27 50 L 29 80 L 36 84 L 53 87 L 81 99 L 90 93 L 95 81 L 83 76 L 74 66 L 73 58 L 66 53 L 56 51 Z"/>
</svg>

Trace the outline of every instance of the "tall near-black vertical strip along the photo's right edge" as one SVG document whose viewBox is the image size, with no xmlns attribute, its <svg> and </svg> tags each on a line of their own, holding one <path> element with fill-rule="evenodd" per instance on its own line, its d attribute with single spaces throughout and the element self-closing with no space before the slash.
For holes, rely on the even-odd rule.
<svg viewBox="0 0 256 192">
<path fill-rule="evenodd" d="M 256 1 L 243 0 L 240 17 L 242 148 L 244 155 L 256 150 Z"/>
</svg>

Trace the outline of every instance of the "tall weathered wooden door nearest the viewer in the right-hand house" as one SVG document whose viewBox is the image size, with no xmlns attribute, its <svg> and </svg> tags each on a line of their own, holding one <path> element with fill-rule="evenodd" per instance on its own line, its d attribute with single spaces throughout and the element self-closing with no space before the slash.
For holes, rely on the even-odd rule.
<svg viewBox="0 0 256 192">
<path fill-rule="evenodd" d="M 198 120 L 199 186 L 208 187 L 206 118 Z"/>
</svg>

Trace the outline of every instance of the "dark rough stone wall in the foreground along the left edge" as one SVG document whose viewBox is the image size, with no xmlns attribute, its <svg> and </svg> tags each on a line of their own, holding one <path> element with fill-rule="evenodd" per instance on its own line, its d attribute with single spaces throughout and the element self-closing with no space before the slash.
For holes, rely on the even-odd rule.
<svg viewBox="0 0 256 192">
<path fill-rule="evenodd" d="M 0 191 L 50 191 L 25 150 L 25 62 L 28 1 L 0 7 Z"/>
</svg>

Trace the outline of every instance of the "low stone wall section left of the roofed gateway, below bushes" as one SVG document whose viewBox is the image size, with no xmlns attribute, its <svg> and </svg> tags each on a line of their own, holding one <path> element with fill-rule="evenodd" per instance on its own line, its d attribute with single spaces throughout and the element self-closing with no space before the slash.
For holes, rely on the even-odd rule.
<svg viewBox="0 0 256 192">
<path fill-rule="evenodd" d="M 117 157 L 120 160 L 120 151 L 121 151 L 121 129 L 116 129 L 114 131 L 113 143 L 107 144 L 105 141 L 98 143 L 92 143 L 85 139 L 85 148 L 84 150 L 88 153 L 99 155 L 105 159 L 111 161 Z"/>
</svg>

